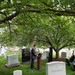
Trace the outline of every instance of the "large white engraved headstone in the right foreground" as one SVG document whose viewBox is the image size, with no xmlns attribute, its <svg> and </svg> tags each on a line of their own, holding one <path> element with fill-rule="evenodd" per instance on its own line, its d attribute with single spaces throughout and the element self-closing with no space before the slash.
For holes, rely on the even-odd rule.
<svg viewBox="0 0 75 75">
<path fill-rule="evenodd" d="M 46 75 L 66 75 L 65 63 L 61 61 L 47 63 Z"/>
</svg>

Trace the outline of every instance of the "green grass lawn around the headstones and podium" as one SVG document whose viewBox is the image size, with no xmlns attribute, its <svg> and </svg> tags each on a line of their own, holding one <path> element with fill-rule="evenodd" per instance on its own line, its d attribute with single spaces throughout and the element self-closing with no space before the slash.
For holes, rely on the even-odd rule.
<svg viewBox="0 0 75 75">
<path fill-rule="evenodd" d="M 17 52 L 17 54 L 19 56 L 19 61 L 21 62 L 21 52 Z M 46 75 L 47 60 L 41 61 L 41 71 L 31 70 L 30 64 L 21 64 L 18 67 L 6 68 L 5 67 L 6 63 L 7 63 L 6 58 L 4 58 L 4 56 L 0 57 L 0 75 L 13 75 L 14 70 L 22 70 L 23 75 Z M 37 68 L 36 62 L 35 68 Z M 66 75 L 75 75 L 75 71 L 72 71 L 72 66 L 66 65 Z"/>
</svg>

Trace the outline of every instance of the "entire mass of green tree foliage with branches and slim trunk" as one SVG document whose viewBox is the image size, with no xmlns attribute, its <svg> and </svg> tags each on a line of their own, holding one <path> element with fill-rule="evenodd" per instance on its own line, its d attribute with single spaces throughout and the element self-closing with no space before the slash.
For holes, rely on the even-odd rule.
<svg viewBox="0 0 75 75">
<path fill-rule="evenodd" d="M 75 43 L 75 0 L 1 0 L 1 42 L 52 46 L 59 51 Z M 30 46 L 30 45 L 29 45 Z"/>
</svg>

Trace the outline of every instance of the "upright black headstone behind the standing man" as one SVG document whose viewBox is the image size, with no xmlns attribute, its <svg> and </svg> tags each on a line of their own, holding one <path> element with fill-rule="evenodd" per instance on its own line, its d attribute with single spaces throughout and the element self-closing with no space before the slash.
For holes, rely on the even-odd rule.
<svg viewBox="0 0 75 75">
<path fill-rule="evenodd" d="M 22 49 L 22 63 L 30 61 L 30 48 Z"/>
</svg>

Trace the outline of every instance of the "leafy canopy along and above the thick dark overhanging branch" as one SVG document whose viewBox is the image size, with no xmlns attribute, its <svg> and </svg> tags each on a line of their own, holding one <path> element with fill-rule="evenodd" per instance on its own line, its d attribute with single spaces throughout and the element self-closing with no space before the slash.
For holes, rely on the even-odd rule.
<svg viewBox="0 0 75 75">
<path fill-rule="evenodd" d="M 74 4 L 75 0 L 0 0 L 0 24 L 26 12 L 75 16 Z"/>
</svg>

